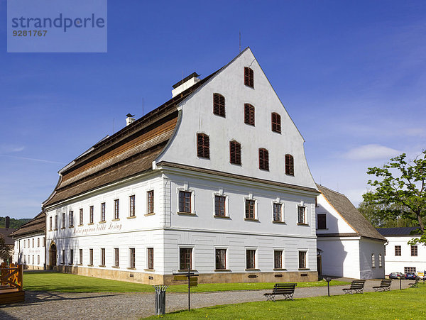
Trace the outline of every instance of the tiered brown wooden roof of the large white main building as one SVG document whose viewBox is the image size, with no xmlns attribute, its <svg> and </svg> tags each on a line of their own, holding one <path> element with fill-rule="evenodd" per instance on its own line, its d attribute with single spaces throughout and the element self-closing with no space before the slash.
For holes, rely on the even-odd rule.
<svg viewBox="0 0 426 320">
<path fill-rule="evenodd" d="M 219 71 L 219 70 L 218 70 Z M 178 105 L 218 71 L 145 116 L 104 138 L 60 170 L 60 179 L 43 208 L 152 170 L 152 162 L 173 136 Z"/>
</svg>

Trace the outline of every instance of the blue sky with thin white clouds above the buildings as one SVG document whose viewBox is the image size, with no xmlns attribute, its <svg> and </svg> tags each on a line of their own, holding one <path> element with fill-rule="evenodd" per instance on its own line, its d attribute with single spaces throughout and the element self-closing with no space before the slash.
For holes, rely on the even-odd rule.
<svg viewBox="0 0 426 320">
<path fill-rule="evenodd" d="M 426 148 L 425 1 L 108 1 L 108 53 L 6 53 L 0 216 L 33 217 L 58 170 L 250 46 L 318 183 L 354 204 L 366 169 Z M 114 126 L 115 123 L 115 126 Z"/>
</svg>

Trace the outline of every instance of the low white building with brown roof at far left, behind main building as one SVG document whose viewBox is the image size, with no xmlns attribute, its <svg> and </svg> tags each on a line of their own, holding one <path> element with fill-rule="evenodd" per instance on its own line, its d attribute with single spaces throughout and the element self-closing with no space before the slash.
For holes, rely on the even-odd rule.
<svg viewBox="0 0 426 320">
<path fill-rule="evenodd" d="M 45 214 L 40 212 L 34 219 L 11 233 L 15 242 L 13 263 L 24 269 L 45 268 Z"/>
</svg>

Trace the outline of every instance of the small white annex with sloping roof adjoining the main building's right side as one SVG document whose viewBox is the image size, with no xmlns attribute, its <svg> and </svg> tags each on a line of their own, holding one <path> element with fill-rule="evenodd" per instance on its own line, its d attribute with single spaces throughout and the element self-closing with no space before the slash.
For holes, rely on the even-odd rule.
<svg viewBox="0 0 426 320">
<path fill-rule="evenodd" d="M 356 279 L 385 277 L 386 239 L 344 194 L 317 184 L 317 245 L 322 274 Z M 320 269 L 320 267 L 319 267 Z"/>
</svg>

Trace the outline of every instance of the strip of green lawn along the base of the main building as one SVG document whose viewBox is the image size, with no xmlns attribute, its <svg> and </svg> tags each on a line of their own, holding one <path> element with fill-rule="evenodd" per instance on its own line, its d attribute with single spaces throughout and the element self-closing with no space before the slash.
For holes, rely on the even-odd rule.
<svg viewBox="0 0 426 320">
<path fill-rule="evenodd" d="M 183 283 L 183 282 L 180 282 Z M 348 282 L 332 281 L 331 285 L 346 285 Z M 325 281 L 299 282 L 297 287 L 320 287 L 327 285 Z M 55 292 L 154 292 L 151 285 L 133 282 L 99 279 L 83 275 L 70 275 L 57 272 L 24 272 L 23 287 L 28 291 Z M 233 291 L 272 289 L 273 283 L 212 283 L 193 287 L 192 292 Z M 187 285 L 172 285 L 167 292 L 187 292 Z"/>
</svg>

